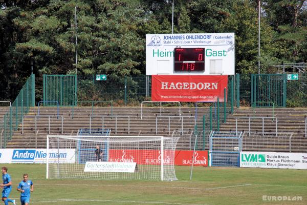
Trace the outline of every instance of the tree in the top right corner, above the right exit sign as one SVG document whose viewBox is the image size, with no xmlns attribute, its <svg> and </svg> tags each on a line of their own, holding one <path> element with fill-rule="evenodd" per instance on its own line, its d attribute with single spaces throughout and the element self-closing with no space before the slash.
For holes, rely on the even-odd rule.
<svg viewBox="0 0 307 205">
<path fill-rule="evenodd" d="M 307 2 L 303 0 L 269 0 L 264 4 L 268 19 L 277 31 L 278 58 L 284 63 L 306 61 Z"/>
</svg>

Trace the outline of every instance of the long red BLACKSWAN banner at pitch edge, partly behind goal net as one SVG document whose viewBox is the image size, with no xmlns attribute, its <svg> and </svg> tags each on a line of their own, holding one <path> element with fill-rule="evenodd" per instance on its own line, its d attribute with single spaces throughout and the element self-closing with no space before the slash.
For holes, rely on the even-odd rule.
<svg viewBox="0 0 307 205">
<path fill-rule="evenodd" d="M 173 154 L 175 154 L 174 165 L 191 166 L 193 151 L 172 150 L 164 151 L 164 165 L 172 164 Z M 160 150 L 109 150 L 108 161 L 111 162 L 136 162 L 138 165 L 160 165 Z M 194 166 L 208 166 L 208 152 L 196 151 Z"/>
</svg>

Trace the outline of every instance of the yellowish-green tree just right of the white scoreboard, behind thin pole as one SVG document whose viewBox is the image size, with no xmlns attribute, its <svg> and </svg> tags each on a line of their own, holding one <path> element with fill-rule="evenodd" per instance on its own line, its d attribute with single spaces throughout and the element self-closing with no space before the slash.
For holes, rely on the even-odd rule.
<svg viewBox="0 0 307 205">
<path fill-rule="evenodd" d="M 234 2 L 233 11 L 224 20 L 223 32 L 234 32 L 236 40 L 235 65 L 237 73 L 258 73 L 258 12 L 249 1 Z M 276 61 L 274 32 L 265 19 L 261 20 L 261 72 L 266 73 L 269 64 Z"/>
</svg>

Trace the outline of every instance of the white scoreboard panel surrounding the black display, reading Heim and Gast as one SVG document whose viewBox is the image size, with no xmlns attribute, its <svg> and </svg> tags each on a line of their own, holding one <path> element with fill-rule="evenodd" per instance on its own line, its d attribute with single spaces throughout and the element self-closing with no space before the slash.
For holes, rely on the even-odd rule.
<svg viewBox="0 0 307 205">
<path fill-rule="evenodd" d="M 146 75 L 234 75 L 234 33 L 146 34 Z M 205 71 L 175 72 L 174 48 L 205 48 Z"/>
</svg>

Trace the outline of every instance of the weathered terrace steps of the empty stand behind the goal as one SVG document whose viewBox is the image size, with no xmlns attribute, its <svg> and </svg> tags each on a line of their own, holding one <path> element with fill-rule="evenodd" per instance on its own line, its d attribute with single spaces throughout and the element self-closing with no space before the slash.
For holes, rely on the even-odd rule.
<svg viewBox="0 0 307 205">
<path fill-rule="evenodd" d="M 255 116 L 268 116 L 271 115 L 271 109 L 268 108 L 256 108 Z M 90 127 L 90 116 L 91 115 L 127 115 L 130 117 L 130 135 L 156 135 L 156 118 L 158 120 L 158 135 L 168 136 L 168 117 L 163 117 L 161 120 L 159 117 L 160 112 L 163 116 L 179 116 L 178 107 L 144 107 L 142 110 L 141 119 L 141 108 L 140 107 L 61 107 L 59 108 L 59 115 L 63 116 L 63 135 L 76 135 L 78 129 Z M 203 115 L 209 115 L 209 108 L 199 107 L 197 110 L 197 120 L 198 128 L 202 128 Z M 184 130 L 194 130 L 194 120 L 195 108 L 181 108 L 180 114 L 183 116 L 189 116 L 184 118 Z M 284 109 L 276 108 L 274 109 L 275 116 L 278 117 L 278 132 L 293 132 L 292 136 L 292 149 L 293 150 L 304 150 L 307 152 L 307 142 L 304 140 L 304 117 L 307 113 L 307 109 Z M 56 107 L 40 107 L 40 115 L 57 115 Z M 212 114 L 214 116 L 214 109 L 212 109 Z M 31 108 L 27 115 L 35 116 L 38 115 L 38 108 Z M 223 114 L 220 113 L 220 130 L 235 131 L 235 117 L 238 116 L 253 116 L 253 108 L 242 108 L 234 111 L 233 115 L 228 115 L 227 122 L 223 124 Z M 92 119 L 93 129 L 102 129 L 102 118 Z M 115 117 L 105 117 L 104 128 L 112 129 L 112 135 L 115 135 Z M 117 119 L 117 135 L 127 135 L 128 126 L 127 119 L 124 117 L 118 117 Z M 294 122 L 295 121 L 295 122 Z M 254 120 L 255 125 L 251 127 L 252 131 L 262 131 L 262 119 Z M 294 122 L 294 123 L 293 123 Z M 39 147 L 46 148 L 46 136 L 48 135 L 49 127 L 48 118 L 39 118 L 36 121 L 36 133 L 35 133 L 35 120 L 33 117 L 25 118 L 24 120 L 24 134 L 21 134 L 22 127 L 18 126 L 18 130 L 14 131 L 12 140 L 8 143 L 8 148 L 25 148 L 26 147 Z M 61 135 L 61 120 L 50 119 L 50 133 L 53 135 Z M 206 121 L 206 124 L 208 122 Z M 208 126 L 206 125 L 206 128 Z M 237 122 L 238 130 L 248 130 L 248 119 L 239 119 Z M 178 132 L 181 130 L 181 120 L 179 118 L 170 118 L 170 134 L 173 130 Z M 270 120 L 265 121 L 265 131 L 275 132 L 275 122 Z M 37 135 L 36 135 L 37 134 Z M 187 136 L 185 136 L 187 137 Z M 36 144 L 33 143 L 36 141 Z M 184 136 L 180 139 L 178 148 L 189 149 L 188 146 L 189 139 L 185 139 Z M 258 140 L 259 141 L 259 140 Z M 248 141 L 248 148 L 250 150 L 254 149 L 253 145 L 257 142 Z M 274 141 L 276 143 L 276 141 Z M 272 142 L 273 144 L 273 142 Z M 206 142 L 206 149 L 208 149 L 209 142 Z M 259 148 L 267 148 L 270 145 L 263 144 L 259 145 Z M 257 148 L 255 148 L 257 149 Z M 275 148 L 274 148 L 275 149 Z M 276 150 L 281 150 L 281 148 L 276 147 Z"/>
</svg>

